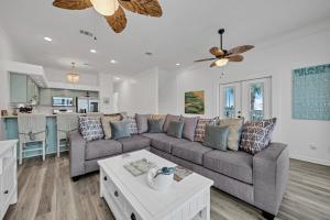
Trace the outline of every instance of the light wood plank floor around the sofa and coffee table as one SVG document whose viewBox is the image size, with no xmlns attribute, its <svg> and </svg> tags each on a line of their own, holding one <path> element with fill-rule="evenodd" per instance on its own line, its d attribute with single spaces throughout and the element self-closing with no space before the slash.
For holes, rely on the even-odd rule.
<svg viewBox="0 0 330 220">
<path fill-rule="evenodd" d="M 6 220 L 114 219 L 99 197 L 99 174 L 72 182 L 68 157 L 30 158 L 19 167 L 19 202 Z M 276 219 L 330 219 L 330 167 L 290 161 L 289 183 Z M 263 219 L 261 211 L 218 189 L 211 190 L 211 219 Z"/>
</svg>

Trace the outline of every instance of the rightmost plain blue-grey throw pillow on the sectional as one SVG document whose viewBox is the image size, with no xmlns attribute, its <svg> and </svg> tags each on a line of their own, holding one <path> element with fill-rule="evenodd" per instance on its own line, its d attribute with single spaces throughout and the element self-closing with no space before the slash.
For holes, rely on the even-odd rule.
<svg viewBox="0 0 330 220">
<path fill-rule="evenodd" d="M 205 130 L 205 141 L 202 144 L 216 150 L 227 151 L 228 134 L 229 127 L 207 125 Z"/>
</svg>

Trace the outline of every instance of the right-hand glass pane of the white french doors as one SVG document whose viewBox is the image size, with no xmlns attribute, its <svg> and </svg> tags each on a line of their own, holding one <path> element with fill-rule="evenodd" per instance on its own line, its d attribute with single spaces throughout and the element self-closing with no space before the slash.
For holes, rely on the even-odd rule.
<svg viewBox="0 0 330 220">
<path fill-rule="evenodd" d="M 255 82 L 250 86 L 250 120 L 264 119 L 264 82 Z"/>
</svg>

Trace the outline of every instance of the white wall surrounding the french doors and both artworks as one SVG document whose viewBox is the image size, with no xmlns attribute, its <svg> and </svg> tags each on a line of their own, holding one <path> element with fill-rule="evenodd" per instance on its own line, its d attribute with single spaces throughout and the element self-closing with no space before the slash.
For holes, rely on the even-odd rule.
<svg viewBox="0 0 330 220">
<path fill-rule="evenodd" d="M 273 116 L 278 118 L 275 141 L 287 143 L 290 157 L 330 165 L 330 122 L 292 118 L 292 70 L 330 63 L 330 22 L 307 28 L 264 43 L 245 54 L 240 64 L 229 64 L 224 78 L 221 68 L 201 64 L 177 73 L 177 113 L 184 113 L 184 92 L 206 91 L 206 116 L 219 114 L 219 85 L 272 76 Z M 330 89 L 330 88 L 329 88 Z M 174 107 L 170 107 L 174 108 Z M 311 150 L 310 144 L 317 146 Z"/>
</svg>

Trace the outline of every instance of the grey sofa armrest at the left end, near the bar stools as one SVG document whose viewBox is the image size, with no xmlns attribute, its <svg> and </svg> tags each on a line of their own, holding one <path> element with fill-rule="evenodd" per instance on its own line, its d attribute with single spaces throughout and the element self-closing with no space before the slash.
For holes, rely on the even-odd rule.
<svg viewBox="0 0 330 220">
<path fill-rule="evenodd" d="M 69 133 L 69 164 L 70 177 L 85 174 L 86 141 L 78 131 Z"/>
</svg>

